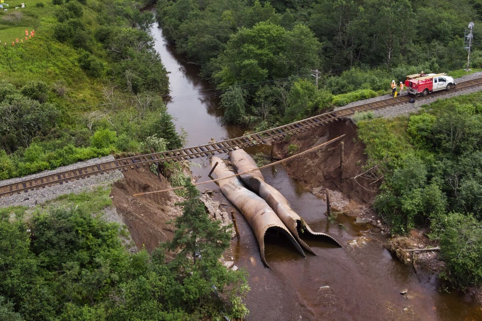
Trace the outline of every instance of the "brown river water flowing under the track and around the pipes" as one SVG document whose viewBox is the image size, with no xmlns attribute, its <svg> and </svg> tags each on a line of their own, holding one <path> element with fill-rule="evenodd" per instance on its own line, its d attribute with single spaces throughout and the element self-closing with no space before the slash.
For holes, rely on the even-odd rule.
<svg viewBox="0 0 482 321">
<path fill-rule="evenodd" d="M 168 111 L 187 146 L 224 140 L 243 129 L 221 122 L 219 97 L 202 81 L 198 68 L 183 61 L 165 41 L 158 26 L 152 28 L 156 50 L 170 72 Z M 251 154 L 263 147 L 247 149 Z M 222 156 L 222 155 L 221 155 Z M 195 159 L 191 167 L 199 182 L 207 181 L 208 159 Z M 266 259 L 261 261 L 256 239 L 237 214 L 240 240 L 233 240 L 235 264 L 249 273 L 251 291 L 244 300 L 247 320 L 480 320 L 482 306 L 463 293 L 439 292 L 435 274 L 407 269 L 384 247 L 386 238 L 355 218 L 338 214 L 329 221 L 322 199 L 304 190 L 282 166 L 264 169 L 265 180 L 276 187 L 314 231 L 335 237 L 343 248 L 317 239 L 305 239 L 316 255 L 303 257 L 286 240 L 270 235 Z M 199 189 L 218 190 L 214 183 Z M 407 290 L 401 295 L 402 290 Z"/>
</svg>

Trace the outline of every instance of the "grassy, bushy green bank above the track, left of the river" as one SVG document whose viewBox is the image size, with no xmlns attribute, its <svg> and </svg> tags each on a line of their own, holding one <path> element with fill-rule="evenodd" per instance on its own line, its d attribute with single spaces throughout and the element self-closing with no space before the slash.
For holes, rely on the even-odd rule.
<svg viewBox="0 0 482 321">
<path fill-rule="evenodd" d="M 0 12 L 0 39 L 11 39 L 0 46 L 0 179 L 181 146 L 152 12 L 130 1 L 13 5 Z"/>
</svg>

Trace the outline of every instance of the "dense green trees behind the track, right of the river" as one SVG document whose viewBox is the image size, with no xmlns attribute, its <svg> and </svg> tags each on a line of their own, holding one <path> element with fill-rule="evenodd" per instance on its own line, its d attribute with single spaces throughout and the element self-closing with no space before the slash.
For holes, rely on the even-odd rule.
<svg viewBox="0 0 482 321">
<path fill-rule="evenodd" d="M 156 8 L 176 50 L 223 91 L 225 120 L 261 130 L 386 93 L 390 79 L 462 69 L 464 29 L 478 25 L 481 6 L 159 0 Z M 475 38 L 471 66 L 479 68 Z"/>
</svg>

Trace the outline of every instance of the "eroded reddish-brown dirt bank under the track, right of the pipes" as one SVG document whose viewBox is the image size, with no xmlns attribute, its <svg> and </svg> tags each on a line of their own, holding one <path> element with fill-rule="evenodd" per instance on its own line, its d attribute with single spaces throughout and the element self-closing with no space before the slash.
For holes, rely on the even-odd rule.
<svg viewBox="0 0 482 321">
<path fill-rule="evenodd" d="M 324 196 L 324 189 L 329 190 L 330 204 L 341 211 L 361 216 L 367 213 L 378 186 L 362 177 L 366 163 L 364 144 L 357 139 L 356 127 L 349 120 L 329 123 L 307 130 L 288 139 L 273 143 L 274 154 L 280 158 L 289 156 L 288 148 L 296 145 L 298 151 L 304 151 L 330 139 L 345 134 L 343 138 L 344 163 L 340 166 L 341 146 L 337 141 L 311 153 L 296 157 L 286 163 L 291 177 L 298 180 L 314 194 Z"/>
</svg>

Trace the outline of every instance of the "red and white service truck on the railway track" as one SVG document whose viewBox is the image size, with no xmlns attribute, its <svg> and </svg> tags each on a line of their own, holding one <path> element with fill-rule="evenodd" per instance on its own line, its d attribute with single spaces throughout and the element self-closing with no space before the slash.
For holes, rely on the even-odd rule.
<svg viewBox="0 0 482 321">
<path fill-rule="evenodd" d="M 439 90 L 451 90 L 457 83 L 446 73 L 416 73 L 406 76 L 405 88 L 409 94 L 427 96 Z"/>
</svg>

